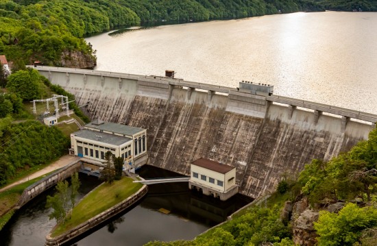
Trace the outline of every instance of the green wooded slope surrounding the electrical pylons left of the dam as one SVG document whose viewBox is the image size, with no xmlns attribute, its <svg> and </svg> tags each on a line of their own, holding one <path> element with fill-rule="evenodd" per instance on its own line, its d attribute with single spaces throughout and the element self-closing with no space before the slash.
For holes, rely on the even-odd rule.
<svg viewBox="0 0 377 246">
<path fill-rule="evenodd" d="M 0 71 L 1 72 L 1 71 Z M 70 139 L 55 126 L 36 121 L 26 107 L 49 93 L 69 98 L 69 108 L 84 122 L 89 119 L 74 102 L 75 97 L 53 85 L 35 69 L 19 70 L 5 80 L 0 93 L 0 186 L 30 167 L 56 160 L 69 148 Z M 42 118 L 38 118 L 42 119 Z"/>
</svg>

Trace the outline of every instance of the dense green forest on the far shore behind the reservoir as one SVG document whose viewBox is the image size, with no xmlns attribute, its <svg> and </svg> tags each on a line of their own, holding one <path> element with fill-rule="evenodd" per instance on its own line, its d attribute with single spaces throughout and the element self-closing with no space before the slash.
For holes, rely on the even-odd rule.
<svg viewBox="0 0 377 246">
<path fill-rule="evenodd" d="M 83 39 L 119 26 L 161 21 L 208 21 L 297 11 L 377 10 L 377 1 L 330 0 L 0 0 L 0 53 L 13 69 L 45 65 L 95 66 Z M 150 25 L 150 24 L 149 24 Z M 68 65 L 67 65 L 68 64 Z"/>
</svg>

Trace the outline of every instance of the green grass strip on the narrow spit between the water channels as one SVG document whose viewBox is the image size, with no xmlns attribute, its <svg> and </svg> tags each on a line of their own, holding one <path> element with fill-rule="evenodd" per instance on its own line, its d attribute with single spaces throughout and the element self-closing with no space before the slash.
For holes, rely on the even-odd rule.
<svg viewBox="0 0 377 246">
<path fill-rule="evenodd" d="M 62 223 L 57 225 L 51 236 L 58 236 L 71 230 L 136 193 L 143 184 L 132 183 L 132 181 L 130 177 L 123 177 L 111 185 L 102 184 L 93 190 L 73 208 L 71 219 L 66 219 L 64 225 Z"/>
</svg>

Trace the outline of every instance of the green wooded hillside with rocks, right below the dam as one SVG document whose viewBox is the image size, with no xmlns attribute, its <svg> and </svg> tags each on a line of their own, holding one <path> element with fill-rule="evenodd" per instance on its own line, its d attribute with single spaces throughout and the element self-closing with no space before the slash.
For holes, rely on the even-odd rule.
<svg viewBox="0 0 377 246">
<path fill-rule="evenodd" d="M 377 128 L 370 132 L 368 140 L 361 141 L 348 153 L 328 162 L 313 160 L 297 179 L 282 177 L 276 193 L 266 202 L 251 206 L 242 215 L 236 214 L 231 221 L 195 240 L 156 241 L 147 246 L 293 246 L 300 245 L 300 240 L 304 245 L 372 246 L 377 242 L 376 202 Z M 293 204 L 294 208 L 291 206 L 290 213 L 285 214 L 287 204 Z M 301 211 L 306 217 L 303 227 L 313 227 L 313 234 L 304 239 L 302 230 L 297 230 L 300 221 L 297 204 L 305 209 Z M 308 223 L 306 214 L 317 214 L 317 218 Z"/>
</svg>

